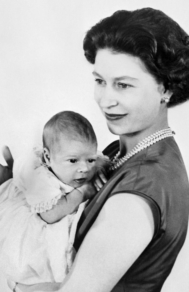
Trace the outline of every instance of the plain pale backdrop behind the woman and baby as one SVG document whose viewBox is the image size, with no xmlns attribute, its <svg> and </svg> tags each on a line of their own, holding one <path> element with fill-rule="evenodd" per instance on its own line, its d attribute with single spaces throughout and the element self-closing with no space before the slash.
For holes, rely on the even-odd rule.
<svg viewBox="0 0 189 292">
<path fill-rule="evenodd" d="M 90 120 L 99 150 L 117 139 L 93 100 L 92 65 L 82 40 L 101 18 L 142 7 L 162 10 L 189 33 L 186 0 L 0 0 L 0 146 L 8 145 L 15 158 L 26 154 L 41 142 L 46 121 L 61 110 Z M 188 102 L 169 109 L 169 125 L 189 173 L 188 110 Z M 0 272 L 0 292 L 7 291 Z M 178 291 L 189 291 L 189 235 L 162 289 Z"/>
</svg>

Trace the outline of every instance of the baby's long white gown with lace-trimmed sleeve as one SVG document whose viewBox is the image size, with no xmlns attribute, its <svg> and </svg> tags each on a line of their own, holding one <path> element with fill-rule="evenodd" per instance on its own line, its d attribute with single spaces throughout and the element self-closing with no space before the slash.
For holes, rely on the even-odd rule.
<svg viewBox="0 0 189 292">
<path fill-rule="evenodd" d="M 41 165 L 40 153 L 15 161 L 13 179 L 0 186 L 0 269 L 7 279 L 26 285 L 63 281 L 75 257 L 76 226 L 87 203 L 54 224 L 40 218 L 38 213 L 74 189 Z"/>
</svg>

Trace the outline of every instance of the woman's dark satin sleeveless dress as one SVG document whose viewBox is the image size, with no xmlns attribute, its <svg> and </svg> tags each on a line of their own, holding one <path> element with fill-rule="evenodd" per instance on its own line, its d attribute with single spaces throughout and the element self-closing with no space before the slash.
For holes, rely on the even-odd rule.
<svg viewBox="0 0 189 292">
<path fill-rule="evenodd" d="M 119 141 L 104 154 L 113 159 Z M 173 137 L 140 151 L 118 168 L 85 208 L 78 223 L 74 247 L 78 250 L 108 198 L 132 193 L 146 199 L 154 217 L 154 236 L 112 292 L 160 292 L 185 241 L 189 185 L 179 148 Z"/>
</svg>

